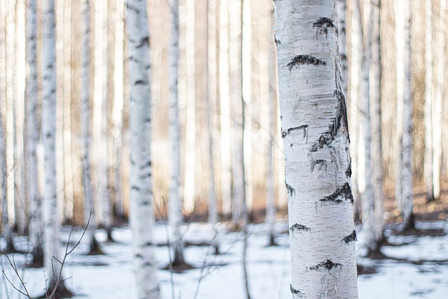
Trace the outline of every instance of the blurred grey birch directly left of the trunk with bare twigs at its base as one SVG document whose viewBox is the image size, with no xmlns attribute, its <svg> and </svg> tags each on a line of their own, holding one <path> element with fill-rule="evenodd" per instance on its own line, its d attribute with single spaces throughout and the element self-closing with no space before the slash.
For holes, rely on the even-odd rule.
<svg viewBox="0 0 448 299">
<path fill-rule="evenodd" d="M 29 77 L 27 81 L 27 158 L 29 198 L 29 242 L 34 265 L 43 265 L 43 223 L 41 197 L 38 193 L 38 172 L 36 147 L 39 141 L 37 101 L 37 4 L 28 1 L 27 12 L 27 60 Z"/>
</svg>

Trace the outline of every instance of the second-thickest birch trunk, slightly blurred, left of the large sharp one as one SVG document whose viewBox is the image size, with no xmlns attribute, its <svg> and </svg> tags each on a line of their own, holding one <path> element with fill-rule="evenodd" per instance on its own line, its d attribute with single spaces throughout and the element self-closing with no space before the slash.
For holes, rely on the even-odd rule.
<svg viewBox="0 0 448 299">
<path fill-rule="evenodd" d="M 139 298 L 160 298 L 153 250 L 151 165 L 151 55 L 146 1 L 127 0 L 130 72 L 130 222 Z"/>
</svg>

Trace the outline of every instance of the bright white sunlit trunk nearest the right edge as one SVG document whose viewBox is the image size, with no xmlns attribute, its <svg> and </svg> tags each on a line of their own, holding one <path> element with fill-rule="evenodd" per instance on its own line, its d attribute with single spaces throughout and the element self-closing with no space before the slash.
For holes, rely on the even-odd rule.
<svg viewBox="0 0 448 299">
<path fill-rule="evenodd" d="M 447 3 L 440 1 L 439 8 L 439 26 L 437 30 L 437 49 L 445 48 Z M 445 52 L 440 50 L 437 55 L 435 101 L 433 104 L 433 188 L 434 198 L 440 197 L 440 167 L 442 165 L 442 102 L 444 85 Z"/>
</svg>

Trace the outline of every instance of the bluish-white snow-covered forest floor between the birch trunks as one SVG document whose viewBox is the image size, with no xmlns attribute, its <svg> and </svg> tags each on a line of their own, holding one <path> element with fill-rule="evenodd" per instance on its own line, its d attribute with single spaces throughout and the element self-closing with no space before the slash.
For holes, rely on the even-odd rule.
<svg viewBox="0 0 448 299">
<path fill-rule="evenodd" d="M 362 232 L 358 233 L 358 263 L 376 267 L 376 273 L 358 277 L 360 299 L 405 299 L 405 298 L 448 298 L 448 223 L 419 223 L 422 232 L 431 230 L 437 234 L 421 236 L 393 235 L 392 228 L 386 230 L 388 240 L 401 246 L 387 246 L 382 249 L 391 259 L 370 260 L 363 254 Z M 64 240 L 69 235 L 64 228 Z M 251 296 L 254 299 L 290 298 L 290 265 L 288 247 L 288 226 L 277 225 L 280 246 L 267 247 L 266 227 L 264 224 L 251 225 L 248 237 L 248 275 Z M 167 228 L 163 223 L 156 225 L 156 242 L 166 242 Z M 437 235 L 437 236 L 430 236 Z M 208 243 L 214 237 L 213 230 L 207 224 L 192 223 L 185 227 L 185 239 L 188 242 Z M 77 230 L 73 240 L 80 237 Z M 99 230 L 97 237 L 104 240 L 106 235 Z M 67 286 L 83 299 L 124 299 L 137 298 L 132 271 L 131 234 L 127 227 L 113 231 L 117 242 L 106 243 L 102 249 L 104 256 L 85 256 L 86 244 L 83 242 L 68 257 L 65 265 Z M 245 298 L 244 278 L 241 264 L 243 235 L 240 232 L 225 232 L 218 235 L 221 251 L 225 254 L 214 256 L 208 246 L 188 246 L 186 260 L 197 267 L 181 274 L 159 270 L 162 298 Z M 24 238 L 16 239 L 18 245 L 26 247 Z M 155 255 L 160 269 L 169 261 L 167 246 L 158 246 Z M 19 273 L 31 295 L 42 293 L 44 275 L 42 269 L 22 269 L 26 257 L 14 254 Z M 12 258 L 12 255 L 10 255 Z M 10 267 L 6 256 L 1 256 L 1 267 L 16 286 L 20 287 L 17 276 Z M 3 275 L 0 281 L 0 298 L 25 298 L 15 291 Z"/>
</svg>

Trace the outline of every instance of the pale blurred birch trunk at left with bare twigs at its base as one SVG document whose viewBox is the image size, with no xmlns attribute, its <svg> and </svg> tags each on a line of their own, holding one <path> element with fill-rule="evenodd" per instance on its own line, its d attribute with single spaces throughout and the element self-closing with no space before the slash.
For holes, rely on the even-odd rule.
<svg viewBox="0 0 448 299">
<path fill-rule="evenodd" d="M 57 208 L 57 176 L 55 154 L 56 132 L 56 35 L 55 1 L 43 6 L 43 115 L 45 187 L 43 190 L 44 263 L 48 284 L 54 286 L 61 264 L 59 255 L 59 215 Z M 53 258 L 54 257 L 54 258 Z M 49 288 L 50 290 L 52 288 Z"/>
</svg>

